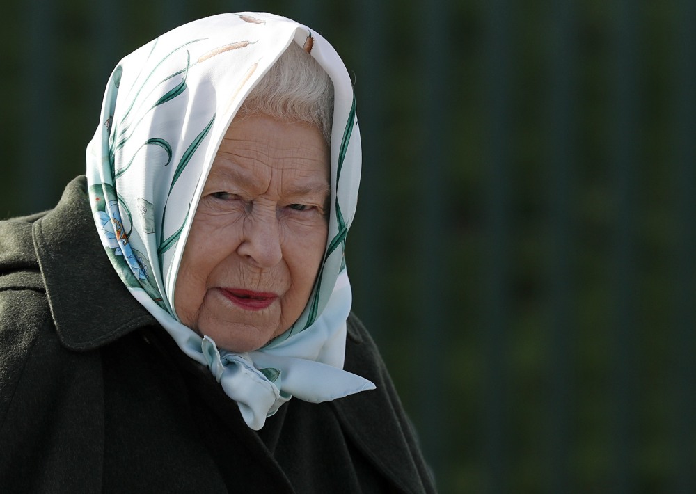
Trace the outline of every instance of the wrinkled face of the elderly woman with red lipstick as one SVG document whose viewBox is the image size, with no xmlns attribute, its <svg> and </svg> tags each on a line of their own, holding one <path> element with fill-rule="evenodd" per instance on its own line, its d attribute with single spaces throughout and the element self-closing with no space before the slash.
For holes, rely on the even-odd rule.
<svg viewBox="0 0 696 494">
<path fill-rule="evenodd" d="M 236 352 L 290 328 L 324 255 L 330 190 L 317 127 L 235 119 L 184 248 L 174 296 L 182 323 Z"/>
</svg>

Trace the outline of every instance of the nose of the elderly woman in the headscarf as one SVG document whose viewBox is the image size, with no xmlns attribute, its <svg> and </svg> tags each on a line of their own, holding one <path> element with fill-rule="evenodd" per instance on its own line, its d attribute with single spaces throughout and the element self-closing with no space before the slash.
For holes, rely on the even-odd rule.
<svg viewBox="0 0 696 494">
<path fill-rule="evenodd" d="M 244 238 L 237 252 L 260 268 L 280 262 L 280 232 L 275 212 L 253 212 L 244 221 Z"/>
</svg>

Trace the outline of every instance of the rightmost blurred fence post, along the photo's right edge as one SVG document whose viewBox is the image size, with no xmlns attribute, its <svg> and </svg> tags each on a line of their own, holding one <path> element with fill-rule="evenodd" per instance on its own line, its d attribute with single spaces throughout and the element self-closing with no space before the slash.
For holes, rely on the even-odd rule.
<svg viewBox="0 0 696 494">
<path fill-rule="evenodd" d="M 675 125 L 674 197 L 677 237 L 674 255 L 674 331 L 672 351 L 674 424 L 674 472 L 672 492 L 693 493 L 695 483 L 696 427 L 696 3 L 679 0 L 674 8 L 674 94 Z"/>
</svg>

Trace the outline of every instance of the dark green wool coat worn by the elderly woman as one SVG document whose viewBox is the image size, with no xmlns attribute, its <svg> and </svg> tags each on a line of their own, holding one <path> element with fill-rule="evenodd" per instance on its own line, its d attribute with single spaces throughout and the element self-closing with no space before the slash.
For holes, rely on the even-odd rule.
<svg viewBox="0 0 696 494">
<path fill-rule="evenodd" d="M 367 331 L 345 369 L 377 390 L 291 399 L 252 431 L 129 294 L 84 177 L 47 214 L 0 222 L 0 492 L 432 492 Z"/>
</svg>

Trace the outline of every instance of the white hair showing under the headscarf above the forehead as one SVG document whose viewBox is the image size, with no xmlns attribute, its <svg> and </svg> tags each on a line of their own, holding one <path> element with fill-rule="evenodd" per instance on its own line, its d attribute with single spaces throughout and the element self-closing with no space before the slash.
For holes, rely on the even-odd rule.
<svg viewBox="0 0 696 494">
<path fill-rule="evenodd" d="M 292 42 L 258 81 L 237 113 L 316 125 L 331 145 L 333 83 L 313 56 Z"/>
</svg>

